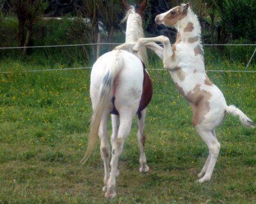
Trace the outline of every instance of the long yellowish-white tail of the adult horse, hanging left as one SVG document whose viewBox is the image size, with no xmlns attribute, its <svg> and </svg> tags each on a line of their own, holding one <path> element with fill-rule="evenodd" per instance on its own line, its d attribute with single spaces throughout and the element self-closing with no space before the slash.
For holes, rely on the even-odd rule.
<svg viewBox="0 0 256 204">
<path fill-rule="evenodd" d="M 87 159 L 90 157 L 90 154 L 93 148 L 96 145 L 98 134 L 99 134 L 99 125 L 102 119 L 102 114 L 104 112 L 105 106 L 111 102 L 112 88 L 114 85 L 114 80 L 119 74 L 123 67 L 123 60 L 117 51 L 116 56 L 113 59 L 113 62 L 110 62 L 106 68 L 106 74 L 102 79 L 102 84 L 99 90 L 99 102 L 96 105 L 95 110 L 90 122 L 90 132 L 88 136 L 87 150 L 84 154 L 83 159 L 81 160 L 81 165 L 83 165 Z"/>
</svg>

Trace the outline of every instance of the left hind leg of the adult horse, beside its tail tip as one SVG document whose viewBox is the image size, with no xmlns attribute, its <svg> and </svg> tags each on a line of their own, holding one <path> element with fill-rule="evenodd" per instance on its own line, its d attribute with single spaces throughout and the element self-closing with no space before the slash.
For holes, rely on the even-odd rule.
<svg viewBox="0 0 256 204">
<path fill-rule="evenodd" d="M 106 111 L 105 113 L 103 113 L 102 115 L 102 120 L 100 123 L 100 127 L 99 127 L 99 138 L 101 141 L 100 144 L 100 154 L 101 157 L 103 159 L 104 162 L 104 187 L 103 187 L 103 191 L 107 190 L 107 181 L 109 178 L 109 156 L 110 156 L 110 147 L 108 144 L 108 135 L 107 135 L 107 125 L 108 125 L 108 112 Z"/>
</svg>

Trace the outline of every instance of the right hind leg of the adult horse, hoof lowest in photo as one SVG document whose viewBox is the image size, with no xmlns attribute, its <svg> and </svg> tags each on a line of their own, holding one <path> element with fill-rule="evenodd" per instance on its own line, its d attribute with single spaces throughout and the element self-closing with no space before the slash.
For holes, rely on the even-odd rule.
<svg viewBox="0 0 256 204">
<path fill-rule="evenodd" d="M 126 117 L 122 117 L 120 115 L 120 125 L 118 130 L 118 136 L 112 147 L 113 150 L 112 150 L 112 158 L 111 158 L 111 172 L 107 182 L 108 190 L 105 194 L 105 196 L 108 198 L 116 197 L 115 186 L 116 186 L 117 163 L 123 149 L 125 138 L 130 133 L 131 123 L 134 115 L 135 113 L 133 115 L 128 115 Z"/>
</svg>

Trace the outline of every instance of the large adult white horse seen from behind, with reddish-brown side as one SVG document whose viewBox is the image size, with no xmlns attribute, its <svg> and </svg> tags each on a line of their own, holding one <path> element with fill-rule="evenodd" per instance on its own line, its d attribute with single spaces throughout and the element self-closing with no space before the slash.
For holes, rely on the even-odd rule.
<svg viewBox="0 0 256 204">
<path fill-rule="evenodd" d="M 128 10 L 124 20 L 126 25 L 126 42 L 137 42 L 144 37 L 142 14 L 146 7 L 146 0 L 135 10 L 125 0 L 122 5 Z M 140 57 L 140 58 L 139 58 Z M 138 114 L 138 141 L 140 144 L 140 172 L 148 172 L 145 155 L 145 114 L 146 106 L 151 100 L 152 83 L 145 71 L 144 63 L 147 61 L 146 49 L 138 51 L 138 57 L 128 51 L 115 50 L 103 54 L 94 63 L 90 78 L 90 98 L 93 106 L 89 141 L 87 152 L 81 163 L 90 156 L 97 137 L 101 140 L 100 152 L 104 161 L 104 187 L 105 196 L 116 196 L 115 185 L 117 162 L 122 152 L 125 138 L 131 130 L 134 115 Z M 109 168 L 110 147 L 107 136 L 108 116 L 112 113 L 112 158 L 111 171 Z"/>
</svg>

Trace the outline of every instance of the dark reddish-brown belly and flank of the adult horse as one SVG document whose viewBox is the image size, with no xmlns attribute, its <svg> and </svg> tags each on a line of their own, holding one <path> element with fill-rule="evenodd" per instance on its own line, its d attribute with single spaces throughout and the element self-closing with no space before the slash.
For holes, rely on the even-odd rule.
<svg viewBox="0 0 256 204">
<path fill-rule="evenodd" d="M 149 77 L 148 72 L 145 70 L 144 63 L 143 63 L 143 74 L 144 74 L 143 91 L 140 99 L 139 108 L 137 111 L 139 119 L 141 118 L 141 111 L 143 111 L 148 106 L 153 94 L 152 81 L 151 81 L 151 78 Z M 112 98 L 112 103 L 113 103 L 113 109 L 111 111 L 111 114 L 119 115 L 119 112 L 116 110 L 116 107 L 115 107 L 115 96 L 113 96 Z"/>
</svg>

